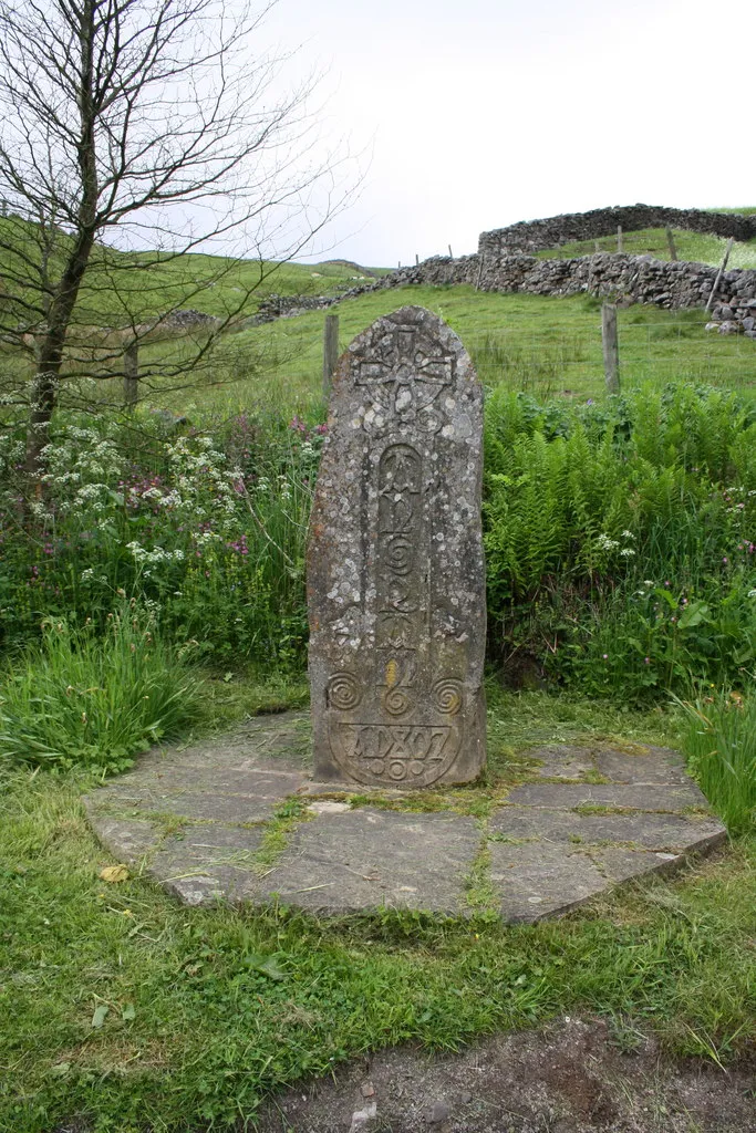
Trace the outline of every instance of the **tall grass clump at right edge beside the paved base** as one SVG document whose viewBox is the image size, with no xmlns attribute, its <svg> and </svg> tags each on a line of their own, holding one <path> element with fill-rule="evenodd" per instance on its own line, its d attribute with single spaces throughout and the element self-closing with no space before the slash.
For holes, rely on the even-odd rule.
<svg viewBox="0 0 756 1133">
<path fill-rule="evenodd" d="M 695 704 L 683 746 L 690 769 L 731 834 L 756 827 L 756 698 L 720 692 Z"/>
</svg>

